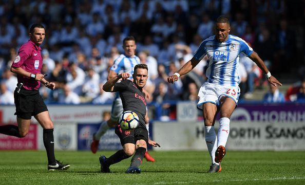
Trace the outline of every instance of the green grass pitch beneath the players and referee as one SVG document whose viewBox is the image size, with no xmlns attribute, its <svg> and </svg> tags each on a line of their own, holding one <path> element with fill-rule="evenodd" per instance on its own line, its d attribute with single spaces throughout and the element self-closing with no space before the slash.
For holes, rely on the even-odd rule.
<svg viewBox="0 0 305 185">
<path fill-rule="evenodd" d="M 0 184 L 305 184 L 305 152 L 227 151 L 222 172 L 208 174 L 205 151 L 151 151 L 156 162 L 143 160 L 141 174 L 125 174 L 130 159 L 100 173 L 99 155 L 113 153 L 56 151 L 71 168 L 48 172 L 45 151 L 1 151 Z"/>
</svg>

